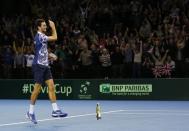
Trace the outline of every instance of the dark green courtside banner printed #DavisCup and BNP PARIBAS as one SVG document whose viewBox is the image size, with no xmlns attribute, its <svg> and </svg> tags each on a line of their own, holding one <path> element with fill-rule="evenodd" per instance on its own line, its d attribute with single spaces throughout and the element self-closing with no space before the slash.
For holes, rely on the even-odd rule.
<svg viewBox="0 0 189 131">
<path fill-rule="evenodd" d="M 55 80 L 57 99 L 68 100 L 189 100 L 189 79 Z M 0 99 L 29 99 L 32 80 L 0 80 Z M 48 99 L 42 86 L 38 99 Z"/>
</svg>

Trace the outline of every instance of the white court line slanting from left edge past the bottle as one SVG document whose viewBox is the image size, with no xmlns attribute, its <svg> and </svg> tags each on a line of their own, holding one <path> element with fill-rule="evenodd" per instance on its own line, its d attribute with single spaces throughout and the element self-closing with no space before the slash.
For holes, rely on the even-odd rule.
<svg viewBox="0 0 189 131">
<path fill-rule="evenodd" d="M 102 114 L 116 113 L 116 112 L 122 112 L 122 111 L 126 111 L 126 110 L 107 111 L 107 112 L 102 112 Z M 82 114 L 82 115 L 75 115 L 75 116 L 68 116 L 68 117 L 65 117 L 65 118 L 41 119 L 41 120 L 37 120 L 37 121 L 38 122 L 54 121 L 54 120 L 60 120 L 60 119 L 70 119 L 70 118 L 77 118 L 77 117 L 84 117 L 84 116 L 93 116 L 93 115 L 96 115 L 96 113 Z M 15 123 L 0 124 L 0 127 L 13 126 L 13 125 L 22 125 L 22 124 L 27 124 L 27 123 L 31 123 L 31 121 L 22 121 L 22 122 L 15 122 Z"/>
</svg>

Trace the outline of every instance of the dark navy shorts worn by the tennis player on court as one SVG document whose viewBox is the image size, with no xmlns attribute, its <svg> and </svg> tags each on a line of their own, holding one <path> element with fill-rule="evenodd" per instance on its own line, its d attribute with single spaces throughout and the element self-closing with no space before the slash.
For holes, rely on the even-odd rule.
<svg viewBox="0 0 189 131">
<path fill-rule="evenodd" d="M 49 66 L 33 64 L 32 71 L 35 83 L 44 84 L 46 80 L 52 79 L 52 73 Z"/>
</svg>

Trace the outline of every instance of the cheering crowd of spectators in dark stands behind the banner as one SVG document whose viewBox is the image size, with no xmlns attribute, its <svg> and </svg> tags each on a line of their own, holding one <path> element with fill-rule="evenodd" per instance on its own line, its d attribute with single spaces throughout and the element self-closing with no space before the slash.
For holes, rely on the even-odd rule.
<svg viewBox="0 0 189 131">
<path fill-rule="evenodd" d="M 47 17 L 58 33 L 48 45 L 54 78 L 189 77 L 189 0 L 24 4 L 26 12 L 0 17 L 0 78 L 32 78 L 34 22 Z"/>
</svg>

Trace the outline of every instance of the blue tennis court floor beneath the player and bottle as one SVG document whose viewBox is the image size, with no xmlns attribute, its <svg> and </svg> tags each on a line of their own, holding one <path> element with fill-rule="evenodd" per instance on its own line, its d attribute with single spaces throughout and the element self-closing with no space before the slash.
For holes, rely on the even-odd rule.
<svg viewBox="0 0 189 131">
<path fill-rule="evenodd" d="M 102 119 L 96 120 L 96 103 Z M 0 131 L 189 131 L 189 101 L 58 101 L 69 113 L 52 118 L 48 100 L 38 100 L 38 124 L 26 119 L 28 100 L 0 100 Z"/>
</svg>

